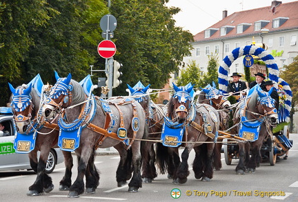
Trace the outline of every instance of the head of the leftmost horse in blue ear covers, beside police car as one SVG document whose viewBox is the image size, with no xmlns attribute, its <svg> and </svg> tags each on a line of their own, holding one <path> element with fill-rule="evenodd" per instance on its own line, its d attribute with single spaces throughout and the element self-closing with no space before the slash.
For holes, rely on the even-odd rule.
<svg viewBox="0 0 298 202">
<path fill-rule="evenodd" d="M 17 132 L 26 133 L 28 125 L 30 125 L 33 104 L 31 101 L 30 92 L 32 90 L 32 84 L 21 85 L 19 88 L 14 87 L 8 83 L 10 91 L 12 92 L 12 112 L 14 117 L 14 123 L 17 128 Z"/>
</svg>

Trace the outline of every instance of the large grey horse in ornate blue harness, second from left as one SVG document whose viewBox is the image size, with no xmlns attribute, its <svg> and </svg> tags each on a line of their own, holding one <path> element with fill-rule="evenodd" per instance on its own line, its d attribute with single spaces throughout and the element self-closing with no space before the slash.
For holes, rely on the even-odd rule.
<svg viewBox="0 0 298 202">
<path fill-rule="evenodd" d="M 54 114 L 60 114 L 58 123 L 63 128 L 61 149 L 74 150 L 79 156 L 77 179 L 70 186 L 68 197 L 79 197 L 83 193 L 83 176 L 86 173 L 88 161 L 96 148 L 115 146 L 123 159 L 126 160 L 126 148 L 132 150 L 133 175 L 128 184 L 128 192 L 137 192 L 141 188 L 141 139 L 146 135 L 146 117 L 143 108 L 134 99 L 117 97 L 104 101 L 96 99 L 92 92 L 90 76 L 85 85 L 68 77 L 60 78 L 55 72 L 57 83 L 53 86 L 48 101 L 43 105 L 43 116 L 50 119 Z M 84 79 L 85 80 L 85 79 Z M 90 90 L 91 88 L 91 90 Z M 87 90 L 87 92 L 86 92 Z M 90 94 L 86 99 L 86 94 Z M 62 112 L 62 113 L 61 113 Z M 125 114 L 125 116 L 123 116 Z M 67 117 L 67 120 L 65 117 Z M 73 132 L 78 139 L 68 139 L 68 132 Z M 73 137 L 73 136 L 72 136 Z M 121 157 L 122 159 L 122 157 Z M 121 186 L 126 183 L 128 176 L 126 161 L 119 163 L 117 182 Z M 130 174 L 131 176 L 131 174 Z M 86 175 L 87 177 L 87 175 Z M 93 176 L 88 176 L 91 179 Z M 129 179 L 129 178 L 128 178 Z M 99 177 L 93 179 L 99 181 Z M 86 185 L 87 186 L 87 185 Z M 95 190 L 97 186 L 93 187 Z"/>
</svg>

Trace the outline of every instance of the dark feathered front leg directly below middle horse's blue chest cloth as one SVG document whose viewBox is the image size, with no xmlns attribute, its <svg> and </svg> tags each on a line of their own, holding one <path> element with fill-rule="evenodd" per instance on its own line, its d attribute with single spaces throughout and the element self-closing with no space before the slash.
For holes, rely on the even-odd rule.
<svg viewBox="0 0 298 202">
<path fill-rule="evenodd" d="M 177 168 L 177 179 L 175 179 L 174 183 L 175 184 L 183 184 L 186 183 L 187 181 L 187 177 L 190 174 L 189 170 L 188 170 L 188 156 L 189 156 L 189 152 L 190 150 L 188 149 L 188 147 L 186 147 L 182 154 L 181 154 L 181 163 L 179 165 L 179 167 Z"/>
</svg>

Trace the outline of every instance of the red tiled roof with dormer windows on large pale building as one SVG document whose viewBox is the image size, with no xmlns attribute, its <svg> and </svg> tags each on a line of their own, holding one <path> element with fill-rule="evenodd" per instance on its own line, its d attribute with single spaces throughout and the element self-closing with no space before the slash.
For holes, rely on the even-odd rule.
<svg viewBox="0 0 298 202">
<path fill-rule="evenodd" d="M 240 12 L 234 12 L 230 14 L 228 17 L 225 17 L 221 21 L 215 23 L 210 26 L 206 30 L 210 28 L 219 29 L 215 34 L 212 34 L 211 37 L 205 38 L 205 30 L 195 34 L 194 39 L 195 42 L 199 41 L 210 41 L 215 39 L 226 39 L 233 37 L 242 37 L 251 34 L 259 34 L 261 31 L 255 31 L 255 22 L 257 21 L 270 21 L 264 29 L 268 29 L 269 32 L 277 32 L 281 30 L 291 30 L 298 28 L 298 1 L 293 1 L 290 3 L 281 3 L 279 6 L 275 8 L 275 12 L 272 12 L 272 6 L 267 6 L 263 8 L 256 8 L 252 10 L 244 10 Z M 288 20 L 279 28 L 272 28 L 273 19 L 286 17 Z M 243 33 L 237 34 L 237 25 L 242 23 L 251 24 Z M 228 34 L 224 36 L 220 36 L 220 28 L 225 26 L 235 26 Z"/>
</svg>

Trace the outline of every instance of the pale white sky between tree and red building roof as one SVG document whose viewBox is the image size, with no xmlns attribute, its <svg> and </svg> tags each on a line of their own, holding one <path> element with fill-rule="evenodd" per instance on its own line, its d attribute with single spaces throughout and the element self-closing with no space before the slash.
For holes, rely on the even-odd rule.
<svg viewBox="0 0 298 202">
<path fill-rule="evenodd" d="M 295 0 L 280 0 L 288 3 Z M 223 10 L 228 15 L 241 10 L 250 10 L 271 6 L 272 0 L 170 0 L 167 6 L 174 6 L 181 11 L 174 16 L 176 26 L 197 34 L 222 19 Z"/>
</svg>

